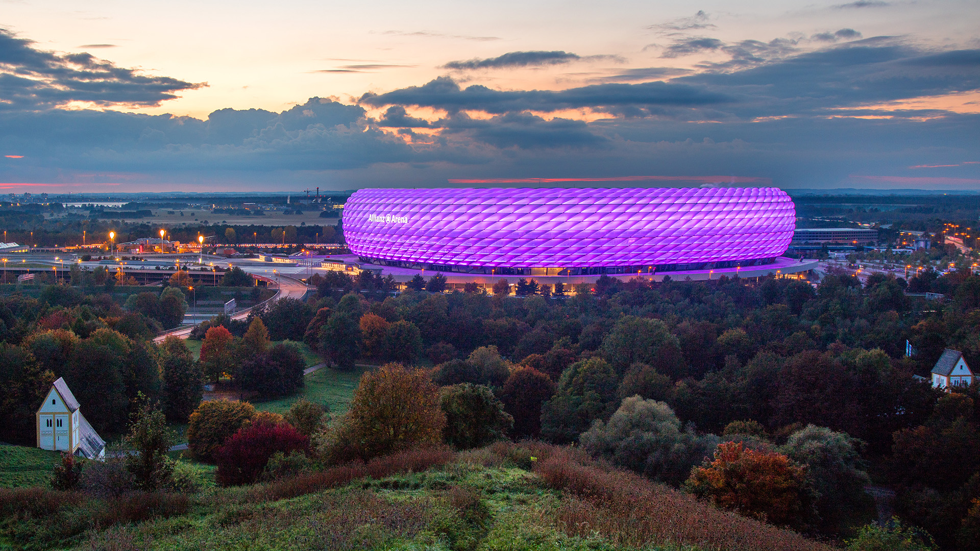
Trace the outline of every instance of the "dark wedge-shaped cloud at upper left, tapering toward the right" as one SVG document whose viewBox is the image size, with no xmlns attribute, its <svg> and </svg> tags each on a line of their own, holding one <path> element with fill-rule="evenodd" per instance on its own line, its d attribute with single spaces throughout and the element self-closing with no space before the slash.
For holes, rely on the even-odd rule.
<svg viewBox="0 0 980 551">
<path fill-rule="evenodd" d="M 38 50 L 0 28 L 0 111 L 49 109 L 72 102 L 100 106 L 156 106 L 176 92 L 206 86 L 145 75 L 89 54 Z"/>
</svg>

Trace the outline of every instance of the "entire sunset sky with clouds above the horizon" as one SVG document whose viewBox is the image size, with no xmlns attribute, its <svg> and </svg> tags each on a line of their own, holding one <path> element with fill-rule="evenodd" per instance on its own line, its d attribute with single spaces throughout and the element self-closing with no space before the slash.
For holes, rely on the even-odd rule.
<svg viewBox="0 0 980 551">
<path fill-rule="evenodd" d="M 980 190 L 975 0 L 0 0 L 0 191 Z"/>
</svg>

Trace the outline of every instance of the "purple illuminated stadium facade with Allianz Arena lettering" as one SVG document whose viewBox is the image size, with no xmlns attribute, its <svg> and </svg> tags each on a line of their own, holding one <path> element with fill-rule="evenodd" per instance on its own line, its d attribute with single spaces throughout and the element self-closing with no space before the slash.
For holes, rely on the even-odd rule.
<svg viewBox="0 0 980 551">
<path fill-rule="evenodd" d="M 795 217 L 774 187 L 361 189 L 343 225 L 374 264 L 586 275 L 771 263 Z"/>
</svg>

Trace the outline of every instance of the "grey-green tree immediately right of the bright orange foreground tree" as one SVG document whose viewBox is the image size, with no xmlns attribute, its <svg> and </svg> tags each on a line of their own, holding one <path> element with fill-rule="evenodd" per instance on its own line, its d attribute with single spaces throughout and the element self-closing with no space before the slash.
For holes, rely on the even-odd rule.
<svg viewBox="0 0 980 551">
<path fill-rule="evenodd" d="M 779 451 L 798 465 L 816 490 L 820 531 L 839 533 L 864 524 L 874 515 L 874 503 L 864 493 L 871 483 L 860 458 L 861 442 L 844 432 L 808 425 L 792 433 Z"/>
</svg>

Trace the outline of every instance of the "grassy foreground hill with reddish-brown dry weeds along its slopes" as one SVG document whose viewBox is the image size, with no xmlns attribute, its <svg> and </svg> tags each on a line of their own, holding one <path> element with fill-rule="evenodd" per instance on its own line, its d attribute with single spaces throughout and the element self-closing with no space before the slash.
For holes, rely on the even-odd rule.
<svg viewBox="0 0 980 551">
<path fill-rule="evenodd" d="M 0 549 L 829 550 L 574 448 L 417 449 L 196 494 L 0 489 Z"/>
</svg>

